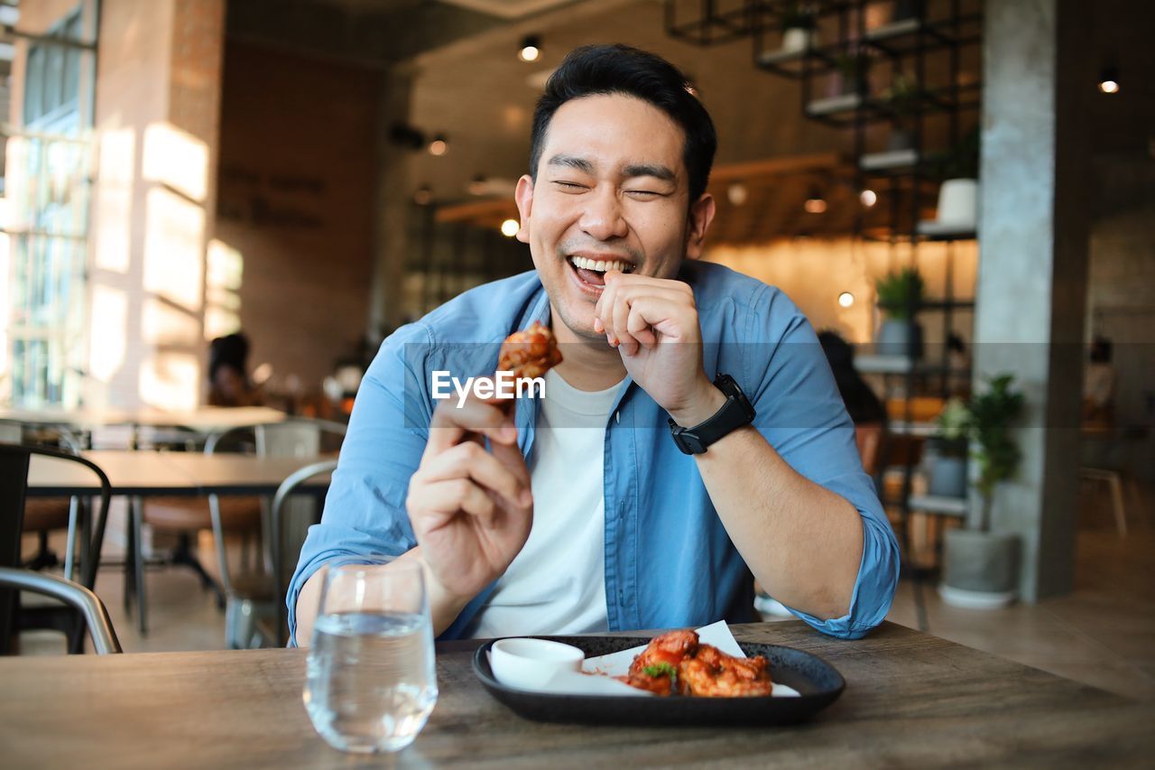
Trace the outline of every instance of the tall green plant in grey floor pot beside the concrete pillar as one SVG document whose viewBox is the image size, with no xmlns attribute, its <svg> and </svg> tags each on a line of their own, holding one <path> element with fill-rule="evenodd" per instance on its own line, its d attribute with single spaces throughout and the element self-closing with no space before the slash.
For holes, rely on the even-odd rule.
<svg viewBox="0 0 1155 770">
<path fill-rule="evenodd" d="M 981 505 L 966 528 L 946 533 L 939 593 L 954 606 L 1003 607 L 1018 595 L 1019 538 L 990 531 L 994 493 L 1014 477 L 1022 457 L 1013 428 L 1024 399 L 1013 383 L 1012 375 L 991 378 L 986 391 L 971 397 L 968 407 Z"/>
</svg>

